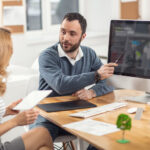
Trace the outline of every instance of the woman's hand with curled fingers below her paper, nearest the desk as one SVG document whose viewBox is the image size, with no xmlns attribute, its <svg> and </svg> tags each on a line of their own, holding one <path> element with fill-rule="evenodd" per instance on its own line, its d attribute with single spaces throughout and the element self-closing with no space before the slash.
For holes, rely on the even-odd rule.
<svg viewBox="0 0 150 150">
<path fill-rule="evenodd" d="M 12 119 L 16 126 L 23 126 L 34 123 L 37 119 L 39 111 L 30 109 L 19 113 L 16 117 Z"/>
</svg>

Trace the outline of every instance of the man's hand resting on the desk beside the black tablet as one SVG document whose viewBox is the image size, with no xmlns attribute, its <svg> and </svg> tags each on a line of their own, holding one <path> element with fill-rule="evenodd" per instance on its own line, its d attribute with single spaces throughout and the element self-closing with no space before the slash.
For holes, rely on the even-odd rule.
<svg viewBox="0 0 150 150">
<path fill-rule="evenodd" d="M 79 99 L 89 100 L 92 99 L 93 97 L 96 97 L 96 94 L 92 89 L 90 90 L 82 89 L 73 94 L 73 96 L 77 96 Z"/>
</svg>

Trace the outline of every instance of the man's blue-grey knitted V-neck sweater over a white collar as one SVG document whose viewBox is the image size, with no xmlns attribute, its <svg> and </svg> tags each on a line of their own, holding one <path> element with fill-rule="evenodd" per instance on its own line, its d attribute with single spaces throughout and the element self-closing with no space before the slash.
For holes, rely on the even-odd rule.
<svg viewBox="0 0 150 150">
<path fill-rule="evenodd" d="M 95 83 L 95 71 L 103 64 L 96 56 L 94 50 L 81 46 L 83 57 L 74 65 L 67 57 L 60 57 L 58 44 L 47 48 L 40 54 L 39 90 L 53 90 L 49 96 L 71 95 L 84 87 Z M 106 80 L 99 81 L 91 87 L 96 96 L 104 95 L 113 91 L 106 84 Z"/>
</svg>

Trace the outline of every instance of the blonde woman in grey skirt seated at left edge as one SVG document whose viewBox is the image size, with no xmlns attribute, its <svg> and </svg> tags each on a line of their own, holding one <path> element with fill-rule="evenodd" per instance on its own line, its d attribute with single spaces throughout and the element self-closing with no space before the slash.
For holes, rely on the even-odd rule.
<svg viewBox="0 0 150 150">
<path fill-rule="evenodd" d="M 12 53 L 11 33 L 5 28 L 0 28 L 0 97 L 6 90 L 6 68 Z M 38 111 L 34 109 L 21 113 L 13 110 L 13 107 L 20 103 L 20 101 L 12 103 L 5 109 L 3 100 L 0 98 L 0 136 L 16 126 L 31 124 L 37 118 Z M 16 116 L 1 123 L 2 117 L 8 115 Z M 39 127 L 30 130 L 11 142 L 1 143 L 0 141 L 0 150 L 52 150 L 52 145 L 52 140 L 47 129 Z"/>
</svg>

